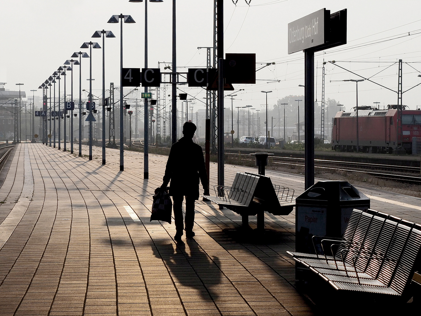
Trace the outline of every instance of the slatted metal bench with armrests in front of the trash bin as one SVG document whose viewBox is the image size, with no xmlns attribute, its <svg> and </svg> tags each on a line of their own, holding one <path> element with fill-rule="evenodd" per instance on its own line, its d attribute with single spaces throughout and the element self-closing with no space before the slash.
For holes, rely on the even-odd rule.
<svg viewBox="0 0 421 316">
<path fill-rule="evenodd" d="M 354 209 L 343 238 L 321 237 L 322 254 L 316 251 L 320 238 L 312 239 L 314 254 L 287 252 L 334 289 L 412 296 L 410 284 L 420 268 L 420 224 Z"/>
</svg>

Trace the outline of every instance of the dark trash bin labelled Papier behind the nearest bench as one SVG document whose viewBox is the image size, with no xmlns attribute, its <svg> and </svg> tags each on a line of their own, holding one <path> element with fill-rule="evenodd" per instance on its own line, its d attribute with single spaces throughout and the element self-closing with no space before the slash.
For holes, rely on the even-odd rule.
<svg viewBox="0 0 421 316">
<path fill-rule="evenodd" d="M 295 208 L 296 251 L 314 253 L 312 236 L 341 238 L 352 210 L 367 211 L 370 199 L 346 181 L 319 181 L 296 198 Z"/>
</svg>

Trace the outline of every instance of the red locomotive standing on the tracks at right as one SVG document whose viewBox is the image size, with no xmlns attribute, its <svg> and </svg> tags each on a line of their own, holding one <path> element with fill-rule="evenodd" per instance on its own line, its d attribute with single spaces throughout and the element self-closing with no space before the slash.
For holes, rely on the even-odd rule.
<svg viewBox="0 0 421 316">
<path fill-rule="evenodd" d="M 365 108 L 368 109 L 359 107 L 358 110 L 360 151 L 392 153 L 397 148 L 405 149 L 408 153 L 412 151 L 413 137 L 421 137 L 421 111 L 399 110 L 402 121 L 397 122 L 398 110 L 395 105 L 390 105 L 388 110 Z M 357 112 L 336 113 L 332 124 L 332 149 L 357 150 Z"/>
</svg>

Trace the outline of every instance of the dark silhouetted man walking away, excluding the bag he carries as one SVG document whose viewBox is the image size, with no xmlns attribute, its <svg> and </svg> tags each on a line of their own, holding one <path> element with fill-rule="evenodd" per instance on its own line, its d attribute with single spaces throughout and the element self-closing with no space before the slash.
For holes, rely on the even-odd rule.
<svg viewBox="0 0 421 316">
<path fill-rule="evenodd" d="M 171 146 L 167 166 L 161 188 L 166 188 L 170 182 L 169 194 L 173 197 L 174 219 L 176 235 L 179 241 L 183 235 L 183 211 L 181 210 L 184 196 L 186 197 L 186 237 L 195 236 L 193 224 L 195 221 L 195 200 L 199 199 L 199 179 L 202 181 L 204 194 L 209 195 L 208 175 L 202 147 L 193 143 L 196 125 L 186 122 L 183 125 L 183 135 L 178 142 Z"/>
</svg>

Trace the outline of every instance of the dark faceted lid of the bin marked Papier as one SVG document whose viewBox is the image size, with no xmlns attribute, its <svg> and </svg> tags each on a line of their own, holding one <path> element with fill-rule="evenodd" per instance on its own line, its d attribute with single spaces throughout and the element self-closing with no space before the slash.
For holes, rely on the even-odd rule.
<svg viewBox="0 0 421 316">
<path fill-rule="evenodd" d="M 370 199 L 347 181 L 319 181 L 300 194 L 296 203 L 370 205 Z"/>
</svg>

